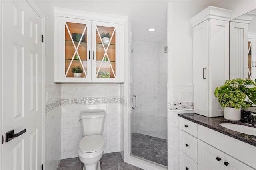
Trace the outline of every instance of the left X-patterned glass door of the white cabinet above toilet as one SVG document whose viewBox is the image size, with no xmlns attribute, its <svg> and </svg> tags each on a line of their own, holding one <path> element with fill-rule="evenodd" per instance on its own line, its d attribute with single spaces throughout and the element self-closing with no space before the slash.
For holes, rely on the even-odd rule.
<svg viewBox="0 0 256 170">
<path fill-rule="evenodd" d="M 60 74 L 65 79 L 86 78 L 91 80 L 91 22 L 86 20 L 65 19 L 62 21 L 60 29 L 64 29 L 63 51 L 65 63 L 61 64 Z M 81 80 L 80 80 L 81 81 Z"/>
</svg>

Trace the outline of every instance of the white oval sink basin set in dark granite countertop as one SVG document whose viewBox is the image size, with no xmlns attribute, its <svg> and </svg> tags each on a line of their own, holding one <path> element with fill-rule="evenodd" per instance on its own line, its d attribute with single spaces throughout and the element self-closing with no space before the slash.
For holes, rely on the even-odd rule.
<svg viewBox="0 0 256 170">
<path fill-rule="evenodd" d="M 256 136 L 256 128 L 250 127 L 250 126 L 244 126 L 244 125 L 238 125 L 238 124 L 232 124 L 232 123 L 220 123 L 222 127 L 225 127 L 227 129 L 230 129 L 232 131 L 245 133 L 247 135 L 254 135 Z"/>
</svg>

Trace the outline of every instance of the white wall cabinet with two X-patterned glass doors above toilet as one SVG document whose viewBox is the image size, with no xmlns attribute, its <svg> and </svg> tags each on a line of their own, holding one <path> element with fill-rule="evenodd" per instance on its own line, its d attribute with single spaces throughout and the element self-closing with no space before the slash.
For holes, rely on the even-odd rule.
<svg viewBox="0 0 256 170">
<path fill-rule="evenodd" d="M 124 82 L 127 18 L 61 8 L 54 12 L 55 82 Z M 72 68 L 78 66 L 83 73 L 75 77 Z"/>
</svg>

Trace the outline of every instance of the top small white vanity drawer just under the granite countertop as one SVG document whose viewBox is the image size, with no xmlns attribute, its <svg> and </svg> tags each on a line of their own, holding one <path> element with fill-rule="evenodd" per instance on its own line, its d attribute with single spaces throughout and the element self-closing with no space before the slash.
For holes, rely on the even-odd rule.
<svg viewBox="0 0 256 170">
<path fill-rule="evenodd" d="M 180 117 L 180 129 L 197 137 L 197 124 L 192 121 Z"/>
</svg>

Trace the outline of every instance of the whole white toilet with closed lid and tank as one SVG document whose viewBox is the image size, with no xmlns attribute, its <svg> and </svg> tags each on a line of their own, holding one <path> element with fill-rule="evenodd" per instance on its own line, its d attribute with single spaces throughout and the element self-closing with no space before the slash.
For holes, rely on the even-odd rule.
<svg viewBox="0 0 256 170">
<path fill-rule="evenodd" d="M 84 137 L 78 145 L 78 157 L 84 163 L 83 170 L 100 170 L 100 158 L 104 151 L 102 132 L 105 115 L 104 110 L 88 110 L 81 113 Z"/>
</svg>

